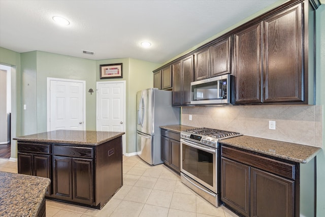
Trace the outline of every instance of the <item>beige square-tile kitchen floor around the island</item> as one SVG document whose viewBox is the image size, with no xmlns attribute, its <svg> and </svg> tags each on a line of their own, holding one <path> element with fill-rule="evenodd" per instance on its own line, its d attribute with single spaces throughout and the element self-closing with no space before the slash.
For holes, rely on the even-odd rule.
<svg viewBox="0 0 325 217">
<path fill-rule="evenodd" d="M 17 173 L 17 162 L 0 159 L 0 171 Z M 166 166 L 149 166 L 138 156 L 123 157 L 123 186 L 101 210 L 46 200 L 46 216 L 237 217 L 191 191 Z"/>
</svg>

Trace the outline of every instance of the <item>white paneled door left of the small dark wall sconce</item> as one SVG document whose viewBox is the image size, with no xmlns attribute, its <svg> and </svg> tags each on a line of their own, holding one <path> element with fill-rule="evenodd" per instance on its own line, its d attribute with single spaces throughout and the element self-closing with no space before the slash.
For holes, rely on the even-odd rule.
<svg viewBox="0 0 325 217">
<path fill-rule="evenodd" d="M 48 78 L 48 130 L 85 130 L 85 81 Z"/>
</svg>

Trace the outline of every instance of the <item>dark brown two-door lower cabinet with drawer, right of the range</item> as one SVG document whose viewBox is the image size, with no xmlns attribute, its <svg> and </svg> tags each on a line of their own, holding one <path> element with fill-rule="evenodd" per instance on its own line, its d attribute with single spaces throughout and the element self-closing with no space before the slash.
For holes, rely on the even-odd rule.
<svg viewBox="0 0 325 217">
<path fill-rule="evenodd" d="M 299 216 L 299 209 L 295 211 L 298 168 L 221 146 L 221 201 L 243 216 Z"/>
</svg>

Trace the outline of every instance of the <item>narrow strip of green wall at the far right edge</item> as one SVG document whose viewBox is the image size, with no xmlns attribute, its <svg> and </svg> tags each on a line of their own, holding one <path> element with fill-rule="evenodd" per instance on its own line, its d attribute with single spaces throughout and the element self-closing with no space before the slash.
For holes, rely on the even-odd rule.
<svg viewBox="0 0 325 217">
<path fill-rule="evenodd" d="M 316 105 L 323 108 L 323 147 L 325 145 L 325 5 L 316 10 Z M 317 155 L 317 216 L 325 216 L 325 152 Z"/>
</svg>

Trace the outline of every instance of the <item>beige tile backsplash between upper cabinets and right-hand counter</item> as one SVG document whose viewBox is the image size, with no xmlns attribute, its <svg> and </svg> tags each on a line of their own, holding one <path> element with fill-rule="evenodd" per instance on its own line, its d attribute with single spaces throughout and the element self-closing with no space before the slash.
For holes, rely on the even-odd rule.
<svg viewBox="0 0 325 217">
<path fill-rule="evenodd" d="M 181 123 L 322 147 L 322 115 L 322 106 L 314 105 L 191 106 L 182 107 Z M 275 130 L 269 120 L 276 121 Z"/>
</svg>

